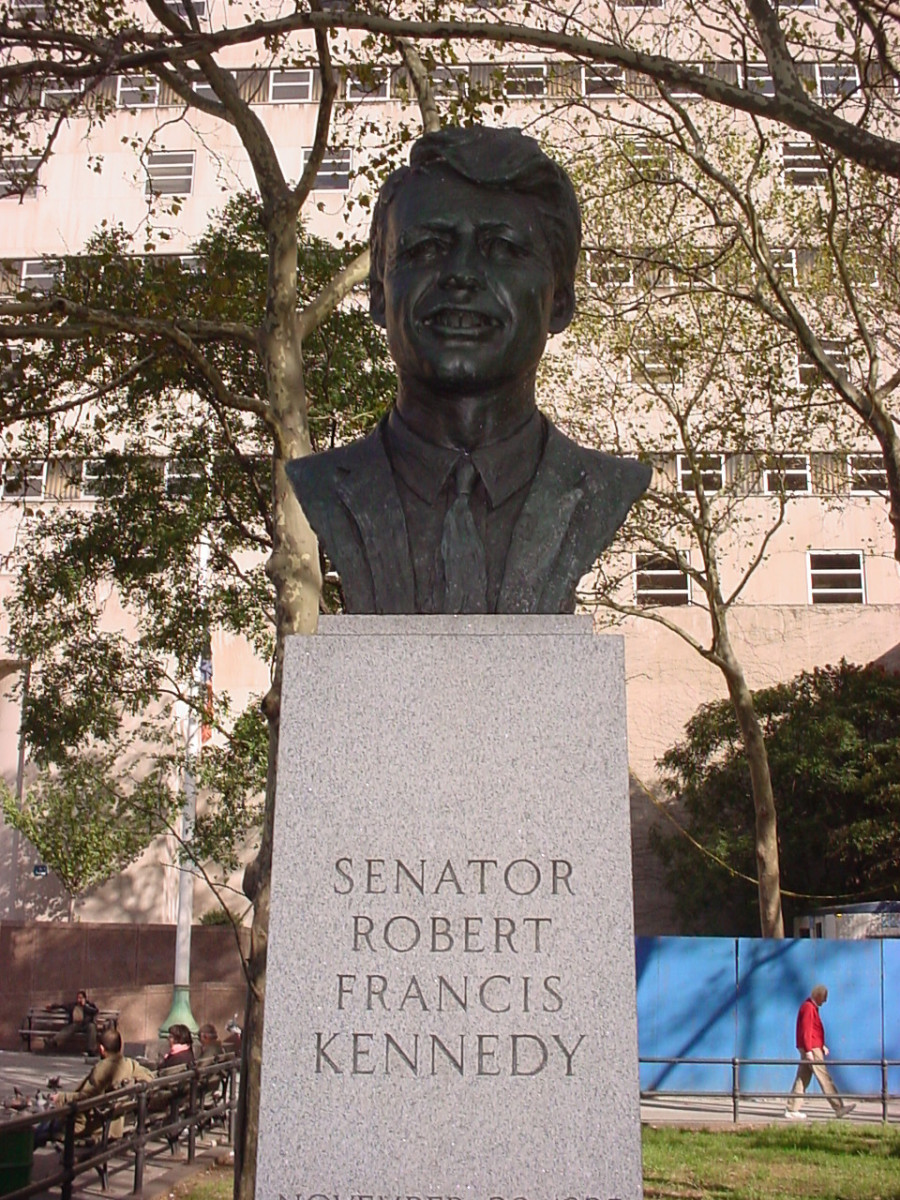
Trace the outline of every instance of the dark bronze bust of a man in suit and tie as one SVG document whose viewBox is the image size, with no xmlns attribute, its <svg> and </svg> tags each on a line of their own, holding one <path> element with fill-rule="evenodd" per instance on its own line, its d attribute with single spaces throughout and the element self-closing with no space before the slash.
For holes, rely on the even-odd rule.
<svg viewBox="0 0 900 1200">
<path fill-rule="evenodd" d="M 397 396 L 378 428 L 288 464 L 352 613 L 571 612 L 649 482 L 535 406 L 575 311 L 571 181 L 518 130 L 413 146 L 372 220 L 370 307 Z"/>
</svg>

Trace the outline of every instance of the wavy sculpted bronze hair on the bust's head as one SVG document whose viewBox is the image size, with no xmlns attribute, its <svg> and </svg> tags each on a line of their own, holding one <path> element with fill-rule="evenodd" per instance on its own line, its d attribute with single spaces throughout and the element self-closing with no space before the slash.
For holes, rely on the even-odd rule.
<svg viewBox="0 0 900 1200">
<path fill-rule="evenodd" d="M 486 126 L 449 127 L 426 133 L 413 145 L 409 166 L 385 179 L 372 214 L 370 281 L 384 278 L 384 235 L 388 210 L 416 175 L 444 168 L 479 187 L 530 196 L 550 245 L 557 286 L 575 282 L 581 252 L 581 209 L 572 182 L 521 130 Z"/>
</svg>

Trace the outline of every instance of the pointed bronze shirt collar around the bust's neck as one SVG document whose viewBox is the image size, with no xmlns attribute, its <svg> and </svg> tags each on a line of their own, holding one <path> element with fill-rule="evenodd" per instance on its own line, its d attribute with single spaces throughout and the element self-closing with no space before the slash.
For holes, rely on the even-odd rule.
<svg viewBox="0 0 900 1200">
<path fill-rule="evenodd" d="M 392 408 L 388 418 L 388 448 L 391 466 L 403 482 L 427 504 L 434 504 L 462 451 L 426 442 L 414 433 Z M 503 442 L 479 446 L 472 452 L 491 508 L 497 508 L 530 482 L 544 454 L 546 426 L 535 409 L 524 425 Z"/>
</svg>

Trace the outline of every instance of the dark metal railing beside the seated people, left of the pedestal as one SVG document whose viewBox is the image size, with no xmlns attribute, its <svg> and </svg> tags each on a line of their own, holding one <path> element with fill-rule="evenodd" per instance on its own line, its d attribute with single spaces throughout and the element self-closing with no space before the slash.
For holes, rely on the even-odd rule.
<svg viewBox="0 0 900 1200">
<path fill-rule="evenodd" d="M 0 1122 L 0 1168 L 25 1166 L 24 1162 L 4 1159 L 2 1142 L 14 1144 L 17 1133 L 23 1141 L 34 1142 L 38 1129 L 50 1133 L 60 1150 L 60 1165 L 41 1175 L 25 1187 L 5 1192 L 5 1200 L 28 1200 L 38 1193 L 60 1189 L 61 1200 L 71 1200 L 72 1184 L 79 1175 L 96 1171 L 106 1190 L 109 1175 L 132 1170 L 132 1192 L 139 1194 L 144 1186 L 148 1162 L 167 1151 L 174 1153 L 182 1134 L 187 1134 L 187 1162 L 192 1163 L 198 1133 L 210 1126 L 221 1126 L 228 1144 L 234 1141 L 236 1084 L 239 1062 L 203 1063 L 160 1079 L 114 1088 L 103 1096 L 73 1100 L 55 1109 L 32 1112 Z M 86 1115 L 98 1136 L 86 1139 L 76 1134 L 76 1122 Z M 110 1134 L 110 1127 L 124 1121 L 122 1136 Z M 48 1130 L 48 1126 L 53 1128 Z M 29 1138 L 29 1130 L 31 1135 Z M 11 1136 L 12 1135 L 12 1136 Z"/>
</svg>

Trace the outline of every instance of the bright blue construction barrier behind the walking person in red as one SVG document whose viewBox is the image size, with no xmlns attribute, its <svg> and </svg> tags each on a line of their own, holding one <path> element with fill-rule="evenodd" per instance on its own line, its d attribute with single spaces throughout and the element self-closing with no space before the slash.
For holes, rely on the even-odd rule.
<svg viewBox="0 0 900 1200">
<path fill-rule="evenodd" d="M 720 1058 L 726 1063 L 642 1063 L 641 1087 L 727 1092 L 730 1060 L 796 1062 L 797 1009 L 816 983 L 836 1060 L 900 1060 L 900 941 L 638 937 L 637 1036 L 641 1058 Z M 740 1068 L 742 1092 L 787 1092 L 793 1063 Z M 878 1093 L 878 1066 L 833 1070 L 841 1091 Z M 900 1067 L 888 1088 L 900 1091 Z"/>
</svg>

